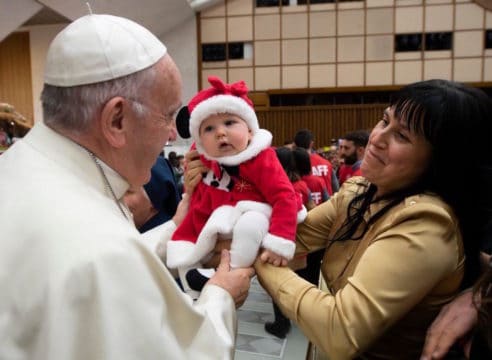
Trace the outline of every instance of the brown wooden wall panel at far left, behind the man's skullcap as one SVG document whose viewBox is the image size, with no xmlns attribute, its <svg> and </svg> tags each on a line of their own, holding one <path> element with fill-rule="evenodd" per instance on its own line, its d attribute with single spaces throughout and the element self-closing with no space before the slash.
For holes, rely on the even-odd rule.
<svg viewBox="0 0 492 360">
<path fill-rule="evenodd" d="M 33 123 L 31 55 L 28 32 L 16 32 L 0 42 L 0 102 L 14 106 Z"/>
</svg>

